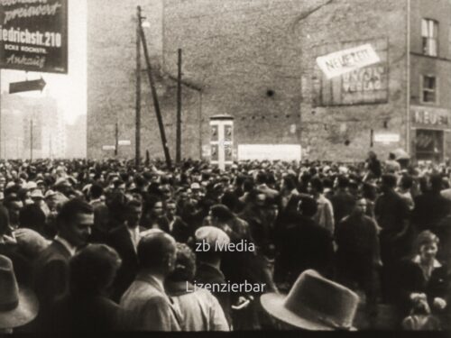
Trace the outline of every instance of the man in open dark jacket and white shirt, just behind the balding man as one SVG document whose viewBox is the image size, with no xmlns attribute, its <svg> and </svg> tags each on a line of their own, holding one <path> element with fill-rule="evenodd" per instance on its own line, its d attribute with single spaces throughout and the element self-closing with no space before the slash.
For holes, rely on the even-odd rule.
<svg viewBox="0 0 451 338">
<path fill-rule="evenodd" d="M 140 233 L 144 228 L 139 225 L 143 215 L 143 204 L 133 199 L 126 204 L 126 221 L 113 229 L 107 238 L 107 244 L 119 253 L 122 264 L 113 284 L 113 299 L 119 302 L 124 291 L 130 287 L 138 272 L 137 247 Z"/>
</svg>

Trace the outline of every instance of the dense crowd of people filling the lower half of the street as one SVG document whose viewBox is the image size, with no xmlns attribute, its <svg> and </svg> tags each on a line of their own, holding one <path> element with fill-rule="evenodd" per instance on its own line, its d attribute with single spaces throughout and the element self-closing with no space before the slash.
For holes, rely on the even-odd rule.
<svg viewBox="0 0 451 338">
<path fill-rule="evenodd" d="M 447 330 L 450 174 L 2 161 L 0 329 L 362 330 L 389 306 L 385 328 Z"/>
</svg>

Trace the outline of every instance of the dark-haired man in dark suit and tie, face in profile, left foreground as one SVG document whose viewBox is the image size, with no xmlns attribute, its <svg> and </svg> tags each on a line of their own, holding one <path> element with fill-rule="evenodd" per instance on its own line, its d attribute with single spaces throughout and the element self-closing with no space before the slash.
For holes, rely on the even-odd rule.
<svg viewBox="0 0 451 338">
<path fill-rule="evenodd" d="M 38 324 L 54 302 L 68 292 L 69 259 L 87 244 L 94 224 L 93 208 L 81 199 L 72 199 L 61 207 L 57 222 L 58 235 L 34 264 L 33 287 L 40 302 Z"/>
</svg>

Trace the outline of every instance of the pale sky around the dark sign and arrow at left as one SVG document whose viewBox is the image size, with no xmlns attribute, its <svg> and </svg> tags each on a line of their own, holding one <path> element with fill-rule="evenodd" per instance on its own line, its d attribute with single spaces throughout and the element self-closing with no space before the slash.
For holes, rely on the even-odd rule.
<svg viewBox="0 0 451 338">
<path fill-rule="evenodd" d="M 87 0 L 68 0 L 69 3 L 69 72 L 28 74 L 19 70 L 2 70 L 2 93 L 9 83 L 42 77 L 47 86 L 42 93 L 14 94 L 24 96 L 52 96 L 58 100 L 65 120 L 73 123 L 79 114 L 87 112 Z"/>
</svg>

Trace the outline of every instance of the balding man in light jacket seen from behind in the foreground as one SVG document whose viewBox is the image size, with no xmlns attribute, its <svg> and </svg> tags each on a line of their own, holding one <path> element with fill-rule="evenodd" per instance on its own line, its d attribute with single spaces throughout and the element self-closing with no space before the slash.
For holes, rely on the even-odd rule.
<svg viewBox="0 0 451 338">
<path fill-rule="evenodd" d="M 124 325 L 135 331 L 180 331 L 179 310 L 164 291 L 174 269 L 176 242 L 167 233 L 152 232 L 138 244 L 140 271 L 121 298 Z"/>
</svg>

